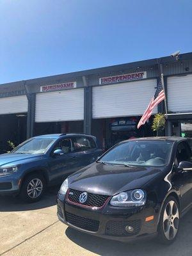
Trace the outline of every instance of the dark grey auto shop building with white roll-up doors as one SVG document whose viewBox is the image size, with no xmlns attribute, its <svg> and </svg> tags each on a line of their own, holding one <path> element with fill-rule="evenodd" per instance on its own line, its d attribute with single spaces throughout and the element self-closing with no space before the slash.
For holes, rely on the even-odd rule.
<svg viewBox="0 0 192 256">
<path fill-rule="evenodd" d="M 162 70 L 161 70 L 162 68 Z M 163 71 L 166 135 L 192 136 L 192 53 L 29 79 L 0 86 L 0 152 L 48 133 L 84 132 L 103 147 L 132 136 L 152 136 L 152 118 L 136 124 Z M 164 103 L 154 113 L 164 113 Z"/>
</svg>

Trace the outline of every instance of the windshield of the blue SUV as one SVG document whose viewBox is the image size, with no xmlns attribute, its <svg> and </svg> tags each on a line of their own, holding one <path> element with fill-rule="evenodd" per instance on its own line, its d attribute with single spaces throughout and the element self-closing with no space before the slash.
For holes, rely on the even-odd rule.
<svg viewBox="0 0 192 256">
<path fill-rule="evenodd" d="M 12 153 L 15 154 L 44 154 L 52 143 L 54 143 L 52 138 L 32 138 L 30 140 L 24 141 L 24 143 L 13 149 Z"/>
</svg>

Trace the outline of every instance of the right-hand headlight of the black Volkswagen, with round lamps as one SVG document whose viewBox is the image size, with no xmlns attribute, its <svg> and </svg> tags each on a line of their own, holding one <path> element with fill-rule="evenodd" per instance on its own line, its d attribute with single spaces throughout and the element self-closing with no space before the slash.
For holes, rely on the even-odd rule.
<svg viewBox="0 0 192 256">
<path fill-rule="evenodd" d="M 110 204 L 118 207 L 136 207 L 145 205 L 146 193 L 142 189 L 125 191 L 111 198 Z"/>
</svg>

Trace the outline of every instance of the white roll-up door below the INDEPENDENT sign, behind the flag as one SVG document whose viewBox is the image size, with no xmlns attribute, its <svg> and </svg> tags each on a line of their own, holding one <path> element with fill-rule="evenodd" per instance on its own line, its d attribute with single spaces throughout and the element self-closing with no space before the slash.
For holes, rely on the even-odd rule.
<svg viewBox="0 0 192 256">
<path fill-rule="evenodd" d="M 94 87 L 93 118 L 143 115 L 156 86 L 156 79 L 149 79 Z"/>
</svg>

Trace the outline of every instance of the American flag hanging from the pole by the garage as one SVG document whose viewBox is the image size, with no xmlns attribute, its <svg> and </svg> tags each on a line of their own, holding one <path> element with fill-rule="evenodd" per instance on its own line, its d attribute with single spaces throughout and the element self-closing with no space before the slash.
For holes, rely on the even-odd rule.
<svg viewBox="0 0 192 256">
<path fill-rule="evenodd" d="M 145 110 L 143 116 L 140 119 L 140 122 L 138 123 L 138 129 L 140 128 L 141 125 L 145 124 L 148 118 L 150 118 L 155 106 L 157 106 L 157 104 L 159 104 L 164 99 L 165 99 L 165 94 L 164 94 L 162 83 L 160 81 L 159 84 L 157 85 L 157 90 L 154 97 L 152 97 L 152 99 L 150 100 L 147 109 Z"/>
</svg>

